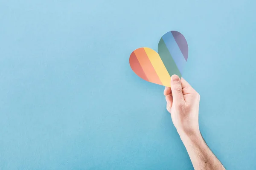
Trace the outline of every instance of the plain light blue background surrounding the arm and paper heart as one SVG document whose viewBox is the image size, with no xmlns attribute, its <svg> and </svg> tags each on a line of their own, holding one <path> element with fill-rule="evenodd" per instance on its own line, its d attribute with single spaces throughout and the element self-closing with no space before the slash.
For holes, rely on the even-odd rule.
<svg viewBox="0 0 256 170">
<path fill-rule="evenodd" d="M 189 44 L 183 77 L 227 169 L 256 167 L 256 1 L 0 0 L 0 169 L 192 169 L 163 86 L 133 50 L 167 31 Z"/>
</svg>

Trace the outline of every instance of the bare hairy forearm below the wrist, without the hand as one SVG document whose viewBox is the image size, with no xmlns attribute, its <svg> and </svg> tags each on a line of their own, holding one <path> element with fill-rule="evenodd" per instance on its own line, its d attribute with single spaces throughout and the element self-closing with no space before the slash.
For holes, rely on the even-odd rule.
<svg viewBox="0 0 256 170">
<path fill-rule="evenodd" d="M 204 142 L 201 133 L 181 133 L 180 139 L 186 147 L 195 170 L 225 170 L 221 162 Z"/>
</svg>

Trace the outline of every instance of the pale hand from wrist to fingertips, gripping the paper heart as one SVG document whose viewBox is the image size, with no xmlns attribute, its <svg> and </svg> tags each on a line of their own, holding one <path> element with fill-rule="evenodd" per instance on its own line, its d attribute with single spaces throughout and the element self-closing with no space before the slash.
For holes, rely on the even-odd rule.
<svg viewBox="0 0 256 170">
<path fill-rule="evenodd" d="M 171 113 L 172 122 L 181 135 L 199 135 L 198 112 L 200 95 L 177 75 L 171 77 L 171 88 L 164 89 L 167 111 Z"/>
</svg>

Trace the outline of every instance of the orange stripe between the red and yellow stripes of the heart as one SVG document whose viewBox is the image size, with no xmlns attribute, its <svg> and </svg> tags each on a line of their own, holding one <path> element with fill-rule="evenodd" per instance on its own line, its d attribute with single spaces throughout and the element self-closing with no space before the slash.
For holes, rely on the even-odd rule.
<svg viewBox="0 0 256 170">
<path fill-rule="evenodd" d="M 149 82 L 153 82 L 159 85 L 163 85 L 163 83 L 160 81 L 159 77 L 157 76 L 157 72 L 155 71 L 153 65 L 151 64 L 144 48 L 138 48 L 134 51 L 137 59 L 140 62 L 140 65 L 143 69 L 143 71 L 146 74 L 146 77 L 148 77 Z"/>
</svg>

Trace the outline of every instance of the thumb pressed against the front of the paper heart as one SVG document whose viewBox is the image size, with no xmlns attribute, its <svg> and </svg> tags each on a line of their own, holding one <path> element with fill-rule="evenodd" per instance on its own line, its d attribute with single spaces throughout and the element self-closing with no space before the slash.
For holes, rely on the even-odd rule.
<svg viewBox="0 0 256 170">
<path fill-rule="evenodd" d="M 172 89 L 172 97 L 174 103 L 183 102 L 183 93 L 182 93 L 182 85 L 180 81 L 180 77 L 177 75 L 172 75 L 171 77 L 171 89 Z"/>
</svg>

